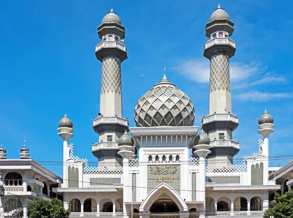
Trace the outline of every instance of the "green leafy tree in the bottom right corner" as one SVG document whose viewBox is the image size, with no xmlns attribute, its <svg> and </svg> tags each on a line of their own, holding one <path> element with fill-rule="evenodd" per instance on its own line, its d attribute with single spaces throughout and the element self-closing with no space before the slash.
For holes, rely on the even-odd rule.
<svg viewBox="0 0 293 218">
<path fill-rule="evenodd" d="M 275 193 L 274 199 L 276 204 L 265 212 L 264 218 L 293 218 L 293 190 L 285 195 Z"/>
</svg>

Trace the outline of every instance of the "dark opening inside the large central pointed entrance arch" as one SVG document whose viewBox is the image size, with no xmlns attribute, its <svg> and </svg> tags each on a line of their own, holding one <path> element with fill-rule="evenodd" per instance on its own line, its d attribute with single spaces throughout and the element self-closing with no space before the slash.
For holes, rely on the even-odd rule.
<svg viewBox="0 0 293 218">
<path fill-rule="evenodd" d="M 176 203 L 166 194 L 161 195 L 149 208 L 150 213 L 178 213 Z"/>
</svg>

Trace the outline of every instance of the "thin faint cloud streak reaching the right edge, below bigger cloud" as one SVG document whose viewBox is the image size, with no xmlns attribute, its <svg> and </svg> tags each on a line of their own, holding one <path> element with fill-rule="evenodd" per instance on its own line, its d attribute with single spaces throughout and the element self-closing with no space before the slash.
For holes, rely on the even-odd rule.
<svg viewBox="0 0 293 218">
<path fill-rule="evenodd" d="M 267 102 L 271 100 L 283 100 L 285 98 L 293 98 L 293 93 L 271 93 L 271 92 L 259 92 L 251 91 L 246 93 L 237 94 L 236 99 L 240 101 L 257 101 L 257 102 Z"/>
</svg>

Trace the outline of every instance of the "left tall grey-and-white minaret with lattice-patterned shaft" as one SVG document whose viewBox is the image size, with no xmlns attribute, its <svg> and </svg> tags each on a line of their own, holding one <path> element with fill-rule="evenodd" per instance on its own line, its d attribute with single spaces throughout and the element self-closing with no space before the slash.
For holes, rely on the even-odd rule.
<svg viewBox="0 0 293 218">
<path fill-rule="evenodd" d="M 92 153 L 102 166 L 122 164 L 117 153 L 118 139 L 128 130 L 128 120 L 122 118 L 121 63 L 127 59 L 125 28 L 113 9 L 103 18 L 98 27 L 96 45 L 97 59 L 102 62 L 102 87 L 99 117 L 93 128 L 99 134 L 99 142 L 92 145 Z"/>
</svg>

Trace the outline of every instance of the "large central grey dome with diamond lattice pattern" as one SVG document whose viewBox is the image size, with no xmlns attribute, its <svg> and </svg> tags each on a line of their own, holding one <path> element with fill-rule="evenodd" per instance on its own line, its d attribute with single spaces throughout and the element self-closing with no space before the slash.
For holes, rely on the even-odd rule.
<svg viewBox="0 0 293 218">
<path fill-rule="evenodd" d="M 191 100 L 165 75 L 139 99 L 134 110 L 137 127 L 192 126 L 194 117 Z"/>
</svg>

